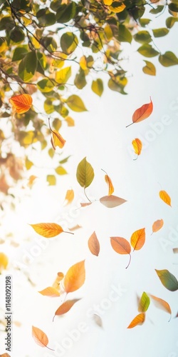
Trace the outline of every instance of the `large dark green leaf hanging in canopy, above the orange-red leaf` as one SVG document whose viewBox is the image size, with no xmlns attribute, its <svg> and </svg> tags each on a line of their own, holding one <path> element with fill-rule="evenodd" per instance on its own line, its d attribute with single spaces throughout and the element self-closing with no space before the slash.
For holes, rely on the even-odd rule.
<svg viewBox="0 0 178 357">
<path fill-rule="evenodd" d="M 24 82 L 30 81 L 36 72 L 36 67 L 37 67 L 36 52 L 31 51 L 28 54 L 26 54 L 24 59 L 22 59 L 19 64 L 19 71 L 18 71 L 19 77 Z"/>
</svg>

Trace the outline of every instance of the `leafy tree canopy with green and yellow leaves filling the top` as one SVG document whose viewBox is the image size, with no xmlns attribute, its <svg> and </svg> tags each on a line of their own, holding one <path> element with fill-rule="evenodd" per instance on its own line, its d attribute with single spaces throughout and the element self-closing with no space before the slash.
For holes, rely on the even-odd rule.
<svg viewBox="0 0 178 357">
<path fill-rule="evenodd" d="M 165 26 L 152 29 L 152 19 L 164 11 Z M 177 0 L 0 0 L 2 194 L 8 196 L 9 187 L 21 180 L 23 168 L 33 166 L 29 147 L 38 143 L 51 158 L 56 146 L 63 148 L 66 140 L 58 132 L 62 124 L 74 126 L 71 111 L 87 110 L 71 88 L 82 91 L 93 73 L 95 79 L 88 85 L 101 96 L 105 74 L 109 89 L 127 94 L 124 43 L 136 41 L 147 75 L 156 74 L 152 57 L 165 67 L 178 64 L 177 56 L 169 49 L 162 54 L 156 41 L 178 21 L 177 12 Z M 35 96 L 43 103 L 42 112 L 31 102 Z M 16 157 L 14 145 L 23 147 L 22 159 Z M 47 176 L 49 184 L 56 183 L 56 174 L 66 174 L 67 161 L 65 156 L 58 161 L 54 174 Z"/>
</svg>

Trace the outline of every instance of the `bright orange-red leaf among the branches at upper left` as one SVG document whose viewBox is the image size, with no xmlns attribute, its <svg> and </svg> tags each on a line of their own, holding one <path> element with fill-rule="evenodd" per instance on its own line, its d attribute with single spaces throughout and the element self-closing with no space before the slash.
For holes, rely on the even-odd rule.
<svg viewBox="0 0 178 357">
<path fill-rule="evenodd" d="M 19 96 L 12 96 L 9 99 L 11 105 L 16 109 L 16 113 L 26 113 L 32 106 L 32 98 L 29 94 L 20 94 Z"/>
</svg>

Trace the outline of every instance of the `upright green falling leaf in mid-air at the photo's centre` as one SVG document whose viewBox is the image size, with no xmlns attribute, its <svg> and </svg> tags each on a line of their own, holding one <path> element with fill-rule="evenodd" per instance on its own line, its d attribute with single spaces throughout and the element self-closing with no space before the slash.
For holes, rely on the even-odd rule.
<svg viewBox="0 0 178 357">
<path fill-rule="evenodd" d="M 78 164 L 76 176 L 78 183 L 84 188 L 90 186 L 90 183 L 92 183 L 95 174 L 93 167 L 86 160 L 86 157 Z"/>
</svg>

